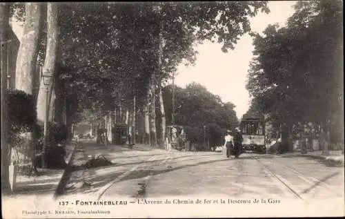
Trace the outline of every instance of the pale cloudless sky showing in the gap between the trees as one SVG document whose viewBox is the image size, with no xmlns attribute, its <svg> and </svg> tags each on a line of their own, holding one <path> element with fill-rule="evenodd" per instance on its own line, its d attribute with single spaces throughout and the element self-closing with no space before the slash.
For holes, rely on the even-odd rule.
<svg viewBox="0 0 345 219">
<path fill-rule="evenodd" d="M 269 1 L 270 13 L 259 12 L 250 18 L 253 31 L 262 34 L 268 24 L 279 23 L 285 26 L 288 17 L 295 10 L 292 6 L 296 1 Z M 234 50 L 221 52 L 221 44 L 205 41 L 196 47 L 199 51 L 195 66 L 186 67 L 183 64 L 177 68 L 175 84 L 185 88 L 191 82 L 206 86 L 210 93 L 219 95 L 222 102 L 235 104 L 236 114 L 241 118 L 249 108 L 250 97 L 246 90 L 246 75 L 249 62 L 253 58 L 253 39 L 249 35 L 241 37 Z"/>
</svg>

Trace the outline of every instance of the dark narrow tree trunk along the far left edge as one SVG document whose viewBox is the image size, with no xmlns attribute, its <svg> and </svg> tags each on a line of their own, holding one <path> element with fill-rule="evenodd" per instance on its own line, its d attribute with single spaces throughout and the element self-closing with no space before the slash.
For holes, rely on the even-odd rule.
<svg viewBox="0 0 345 219">
<path fill-rule="evenodd" d="M 7 90 L 7 52 L 8 52 L 8 3 L 0 3 L 0 69 L 1 69 L 1 191 L 10 192 L 9 166 L 10 166 L 10 145 L 7 144 L 8 137 L 8 114 L 6 102 Z"/>
</svg>

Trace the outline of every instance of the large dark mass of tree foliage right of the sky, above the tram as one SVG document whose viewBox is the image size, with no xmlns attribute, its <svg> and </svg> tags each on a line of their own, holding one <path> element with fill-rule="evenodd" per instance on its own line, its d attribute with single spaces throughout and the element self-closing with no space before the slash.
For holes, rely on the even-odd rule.
<svg viewBox="0 0 345 219">
<path fill-rule="evenodd" d="M 256 35 L 247 88 L 257 107 L 285 122 L 324 122 L 341 108 L 341 5 L 301 1 L 295 9 L 288 26 Z"/>
</svg>

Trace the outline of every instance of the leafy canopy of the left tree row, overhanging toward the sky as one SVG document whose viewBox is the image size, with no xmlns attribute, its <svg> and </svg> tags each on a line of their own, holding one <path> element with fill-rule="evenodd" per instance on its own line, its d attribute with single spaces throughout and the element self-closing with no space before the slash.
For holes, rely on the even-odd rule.
<svg viewBox="0 0 345 219">
<path fill-rule="evenodd" d="M 215 39 L 233 48 L 250 31 L 248 17 L 267 11 L 265 1 L 226 3 L 61 3 L 62 63 L 73 75 L 79 98 L 111 108 L 115 99 L 134 93 L 138 105 L 146 97 L 150 74 L 157 70 L 158 34 L 163 30 L 164 55 L 157 77 L 166 80 L 185 59 L 195 61 L 195 43 Z M 92 30 L 92 31 L 90 31 Z M 119 93 L 121 97 L 119 97 Z M 106 102 L 111 101 L 111 106 Z"/>
</svg>

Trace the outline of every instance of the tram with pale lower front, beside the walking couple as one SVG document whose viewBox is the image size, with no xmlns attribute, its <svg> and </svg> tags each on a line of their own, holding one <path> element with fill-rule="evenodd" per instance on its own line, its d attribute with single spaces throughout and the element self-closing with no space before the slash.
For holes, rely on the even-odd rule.
<svg viewBox="0 0 345 219">
<path fill-rule="evenodd" d="M 243 137 L 242 151 L 266 153 L 264 116 L 244 115 L 240 128 Z"/>
</svg>

